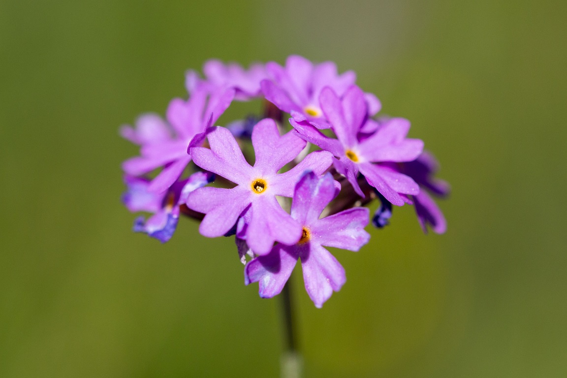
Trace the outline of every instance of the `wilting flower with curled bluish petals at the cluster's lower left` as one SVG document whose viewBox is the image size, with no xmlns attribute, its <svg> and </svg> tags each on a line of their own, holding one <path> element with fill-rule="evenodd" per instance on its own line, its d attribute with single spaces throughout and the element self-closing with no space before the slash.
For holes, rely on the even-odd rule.
<svg viewBox="0 0 567 378">
<path fill-rule="evenodd" d="M 145 177 L 126 175 L 124 181 L 128 191 L 122 196 L 122 202 L 132 212 L 147 211 L 153 213 L 147 220 L 140 216 L 134 222 L 135 232 L 144 232 L 162 243 L 171 239 L 179 220 L 179 206 L 187 201 L 193 190 L 205 186 L 214 180 L 210 172 L 196 172 L 188 179 L 177 181 L 164 193 L 150 192 L 150 180 Z"/>
</svg>

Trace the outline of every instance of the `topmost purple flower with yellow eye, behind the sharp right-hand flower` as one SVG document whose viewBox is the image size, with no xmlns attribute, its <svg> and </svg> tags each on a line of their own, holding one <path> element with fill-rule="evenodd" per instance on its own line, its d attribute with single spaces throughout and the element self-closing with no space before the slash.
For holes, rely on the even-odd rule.
<svg viewBox="0 0 567 378">
<path fill-rule="evenodd" d="M 318 129 L 329 128 L 319 103 L 323 88 L 330 87 L 342 96 L 356 81 L 353 71 L 338 75 L 333 62 L 314 65 L 297 55 L 287 58 L 285 67 L 276 62 L 266 63 L 266 70 L 270 78 L 261 83 L 266 99 L 281 111 L 290 113 L 296 121 L 308 121 Z M 381 105 L 376 96 L 365 94 L 364 97 L 371 115 L 378 113 Z"/>
</svg>

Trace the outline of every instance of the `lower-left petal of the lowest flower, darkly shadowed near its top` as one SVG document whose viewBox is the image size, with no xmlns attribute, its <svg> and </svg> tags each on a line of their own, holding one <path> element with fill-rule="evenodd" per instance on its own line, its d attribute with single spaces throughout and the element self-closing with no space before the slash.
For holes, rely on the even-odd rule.
<svg viewBox="0 0 567 378">
<path fill-rule="evenodd" d="M 293 249 L 294 247 L 278 244 L 266 256 L 248 262 L 244 268 L 244 284 L 258 282 L 261 298 L 272 298 L 280 294 L 297 263 L 297 255 L 287 251 Z"/>
</svg>

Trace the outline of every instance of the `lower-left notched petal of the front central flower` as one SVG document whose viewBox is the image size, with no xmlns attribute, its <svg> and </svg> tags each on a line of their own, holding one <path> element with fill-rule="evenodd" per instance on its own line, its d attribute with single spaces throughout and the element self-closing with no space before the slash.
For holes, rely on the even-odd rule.
<svg viewBox="0 0 567 378">
<path fill-rule="evenodd" d="M 238 220 L 250 203 L 249 190 L 240 188 L 200 188 L 189 193 L 189 209 L 204 213 L 199 232 L 207 237 L 223 236 Z"/>
</svg>

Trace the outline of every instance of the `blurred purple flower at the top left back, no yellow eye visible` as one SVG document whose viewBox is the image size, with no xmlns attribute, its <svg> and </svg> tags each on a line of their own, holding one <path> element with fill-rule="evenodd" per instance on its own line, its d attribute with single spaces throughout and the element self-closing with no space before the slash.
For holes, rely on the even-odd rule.
<svg viewBox="0 0 567 378">
<path fill-rule="evenodd" d="M 192 94 L 198 88 L 205 87 L 210 92 L 234 89 L 235 99 L 248 101 L 260 95 L 260 82 L 267 78 L 266 68 L 263 64 L 252 64 L 248 70 L 244 70 L 236 63 L 225 63 L 211 59 L 203 65 L 205 80 L 193 70 L 187 72 L 185 86 Z"/>
</svg>

